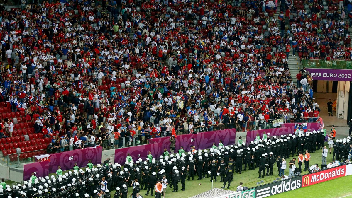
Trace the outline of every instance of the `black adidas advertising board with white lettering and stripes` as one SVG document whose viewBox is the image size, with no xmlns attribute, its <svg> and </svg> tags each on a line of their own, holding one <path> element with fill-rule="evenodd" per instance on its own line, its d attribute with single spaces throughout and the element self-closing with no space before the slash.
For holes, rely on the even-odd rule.
<svg viewBox="0 0 352 198">
<path fill-rule="evenodd" d="M 275 183 L 256 187 L 256 198 L 268 197 L 271 195 L 288 192 L 302 187 L 302 176 L 279 180 Z"/>
</svg>

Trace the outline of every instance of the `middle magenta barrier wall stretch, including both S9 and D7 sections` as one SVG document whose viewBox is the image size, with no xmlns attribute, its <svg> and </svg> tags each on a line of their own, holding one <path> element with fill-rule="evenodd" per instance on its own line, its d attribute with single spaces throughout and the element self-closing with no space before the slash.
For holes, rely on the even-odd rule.
<svg viewBox="0 0 352 198">
<path fill-rule="evenodd" d="M 185 151 L 189 151 L 189 147 L 195 146 L 196 149 L 206 149 L 213 145 L 219 144 L 219 140 L 222 140 L 224 145 L 230 145 L 235 143 L 236 130 L 235 129 L 225 129 L 217 131 L 209 131 L 198 134 L 187 134 L 179 135 L 176 138 L 176 151 L 180 149 L 181 146 L 184 147 Z M 165 138 L 155 138 L 149 140 L 149 145 L 141 145 L 127 148 L 119 148 L 115 150 L 115 163 L 121 165 L 125 164 L 127 153 L 130 153 L 133 161 L 138 160 L 138 158 L 146 159 L 149 151 L 153 155 L 153 158 L 159 158 L 164 152 L 164 148 L 170 150 L 169 137 Z"/>
</svg>

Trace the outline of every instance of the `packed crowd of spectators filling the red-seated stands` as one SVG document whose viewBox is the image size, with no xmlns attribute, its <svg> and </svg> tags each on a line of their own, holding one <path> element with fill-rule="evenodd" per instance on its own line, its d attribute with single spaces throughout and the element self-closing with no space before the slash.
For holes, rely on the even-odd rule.
<svg viewBox="0 0 352 198">
<path fill-rule="evenodd" d="M 328 59 L 345 49 L 348 24 L 337 2 L 299 3 L 282 1 L 278 19 L 273 1 L 1 5 L 2 108 L 20 112 L 2 115 L 1 136 L 32 123 L 61 152 L 314 121 L 307 71 L 294 82 L 288 56 Z"/>
</svg>

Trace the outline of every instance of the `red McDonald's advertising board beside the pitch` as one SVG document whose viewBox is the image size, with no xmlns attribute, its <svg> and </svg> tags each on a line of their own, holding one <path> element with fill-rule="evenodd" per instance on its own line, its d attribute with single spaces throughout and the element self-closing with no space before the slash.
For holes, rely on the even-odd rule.
<svg viewBox="0 0 352 198">
<path fill-rule="evenodd" d="M 349 166 L 350 167 L 350 166 Z M 351 168 L 351 167 L 350 167 Z M 303 175 L 302 187 L 318 184 L 320 182 L 329 181 L 339 177 L 343 177 L 346 174 L 346 165 L 336 166 L 328 168 L 315 173 Z"/>
</svg>

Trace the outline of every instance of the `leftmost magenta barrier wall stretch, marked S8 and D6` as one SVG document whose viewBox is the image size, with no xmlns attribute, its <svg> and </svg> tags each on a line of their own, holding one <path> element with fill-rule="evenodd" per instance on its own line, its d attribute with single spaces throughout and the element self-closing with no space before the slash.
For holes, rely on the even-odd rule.
<svg viewBox="0 0 352 198">
<path fill-rule="evenodd" d="M 28 180 L 34 172 L 39 177 L 45 177 L 49 173 L 54 173 L 61 166 L 61 170 L 70 170 L 74 167 L 75 162 L 78 167 L 85 167 L 88 160 L 92 160 L 93 164 L 101 162 L 102 147 L 75 149 L 63 153 L 50 155 L 50 161 L 34 162 L 25 164 L 23 167 L 23 180 Z"/>
</svg>

